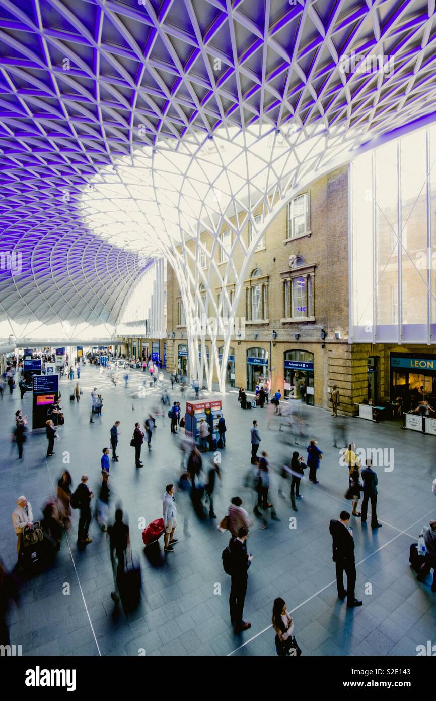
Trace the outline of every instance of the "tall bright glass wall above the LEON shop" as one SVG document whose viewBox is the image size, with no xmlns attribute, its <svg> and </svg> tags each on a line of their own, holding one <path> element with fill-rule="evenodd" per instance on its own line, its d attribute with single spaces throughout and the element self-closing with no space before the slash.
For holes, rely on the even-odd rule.
<svg viewBox="0 0 436 701">
<path fill-rule="evenodd" d="M 436 126 L 351 162 L 353 342 L 435 343 Z"/>
</svg>

